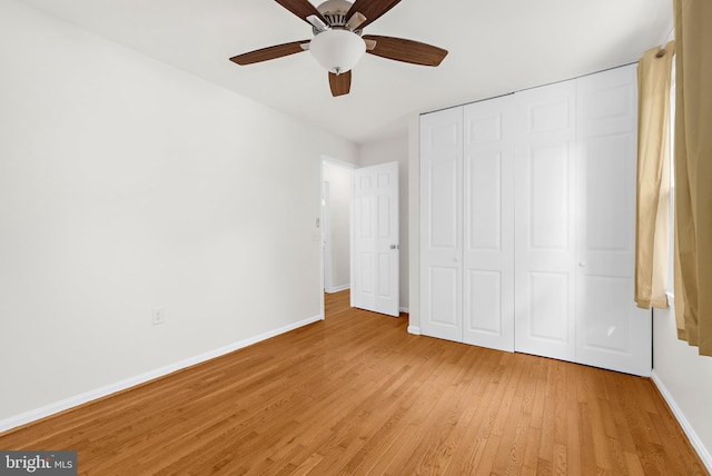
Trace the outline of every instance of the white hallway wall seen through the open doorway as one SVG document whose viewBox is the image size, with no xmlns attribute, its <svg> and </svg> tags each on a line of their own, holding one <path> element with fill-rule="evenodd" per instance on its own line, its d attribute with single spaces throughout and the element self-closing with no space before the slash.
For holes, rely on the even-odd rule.
<svg viewBox="0 0 712 476">
<path fill-rule="evenodd" d="M 323 179 L 329 184 L 332 282 L 328 292 L 350 287 L 350 205 L 353 169 L 325 162 Z"/>
</svg>

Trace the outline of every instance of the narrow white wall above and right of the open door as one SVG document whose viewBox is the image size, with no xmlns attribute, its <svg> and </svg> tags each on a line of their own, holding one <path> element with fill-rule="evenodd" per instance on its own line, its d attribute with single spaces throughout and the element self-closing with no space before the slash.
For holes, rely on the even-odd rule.
<svg viewBox="0 0 712 476">
<path fill-rule="evenodd" d="M 360 167 L 375 166 L 386 162 L 398 162 L 398 201 L 400 216 L 400 309 L 409 309 L 409 271 L 408 258 L 408 138 L 398 137 L 378 142 L 363 145 L 358 165 Z"/>
</svg>

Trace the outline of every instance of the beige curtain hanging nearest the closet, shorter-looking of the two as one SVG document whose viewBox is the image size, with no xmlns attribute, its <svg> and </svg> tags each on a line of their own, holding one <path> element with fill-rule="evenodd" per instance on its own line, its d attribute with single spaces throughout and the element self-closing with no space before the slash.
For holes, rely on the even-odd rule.
<svg viewBox="0 0 712 476">
<path fill-rule="evenodd" d="M 666 308 L 670 245 L 670 75 L 674 42 L 637 65 L 637 209 L 635 303 Z"/>
</svg>

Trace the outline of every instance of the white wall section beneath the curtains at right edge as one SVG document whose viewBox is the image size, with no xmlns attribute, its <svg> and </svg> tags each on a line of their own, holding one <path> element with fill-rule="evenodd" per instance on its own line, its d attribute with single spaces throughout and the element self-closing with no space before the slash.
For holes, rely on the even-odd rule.
<svg viewBox="0 0 712 476">
<path fill-rule="evenodd" d="M 712 473 L 712 357 L 678 339 L 673 308 L 653 309 L 653 380 Z"/>
</svg>

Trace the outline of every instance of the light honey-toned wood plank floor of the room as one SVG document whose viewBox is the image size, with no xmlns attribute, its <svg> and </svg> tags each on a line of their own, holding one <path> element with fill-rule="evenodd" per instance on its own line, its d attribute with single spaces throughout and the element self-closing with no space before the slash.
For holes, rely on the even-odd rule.
<svg viewBox="0 0 712 476">
<path fill-rule="evenodd" d="M 645 378 L 408 335 L 348 308 L 0 435 L 81 475 L 705 475 Z"/>
</svg>

